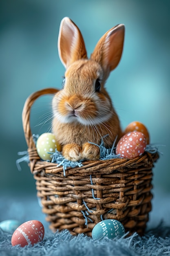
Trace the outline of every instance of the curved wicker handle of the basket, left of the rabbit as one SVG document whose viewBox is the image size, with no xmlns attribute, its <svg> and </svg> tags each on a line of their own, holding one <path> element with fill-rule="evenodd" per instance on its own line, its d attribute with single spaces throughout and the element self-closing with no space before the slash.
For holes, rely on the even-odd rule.
<svg viewBox="0 0 170 256">
<path fill-rule="evenodd" d="M 26 144 L 28 148 L 35 148 L 35 143 L 33 141 L 31 128 L 30 128 L 30 112 L 31 112 L 31 107 L 34 101 L 38 99 L 38 97 L 44 94 L 55 94 L 58 91 L 59 90 L 55 88 L 46 88 L 46 89 L 42 89 L 40 91 L 34 92 L 26 99 L 24 108 L 22 111 L 22 126 L 24 129 L 24 135 L 25 135 Z"/>
</svg>

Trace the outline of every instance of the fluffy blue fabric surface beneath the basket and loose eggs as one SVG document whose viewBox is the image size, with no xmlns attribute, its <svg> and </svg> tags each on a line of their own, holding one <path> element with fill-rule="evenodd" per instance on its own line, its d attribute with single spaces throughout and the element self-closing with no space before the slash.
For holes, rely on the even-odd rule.
<svg viewBox="0 0 170 256">
<path fill-rule="evenodd" d="M 35 195 L 10 195 L 0 198 L 0 221 L 17 219 L 21 223 L 27 220 L 40 220 L 45 228 L 42 243 L 33 247 L 11 246 L 11 236 L 0 229 L 0 256 L 161 256 L 170 255 L 170 200 L 169 196 L 155 193 L 152 200 L 153 210 L 146 234 L 143 237 L 133 234 L 120 239 L 93 240 L 81 234 L 71 236 L 64 230 L 53 234 L 49 230 L 49 223 L 41 212 L 41 207 Z"/>
</svg>

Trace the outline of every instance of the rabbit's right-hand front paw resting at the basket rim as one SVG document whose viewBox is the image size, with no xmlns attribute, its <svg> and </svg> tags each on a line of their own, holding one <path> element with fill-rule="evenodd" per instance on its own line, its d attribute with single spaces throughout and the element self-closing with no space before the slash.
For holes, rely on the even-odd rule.
<svg viewBox="0 0 170 256">
<path fill-rule="evenodd" d="M 84 143 L 82 146 L 82 157 L 87 160 L 97 160 L 100 157 L 100 148 L 91 143 Z"/>
</svg>

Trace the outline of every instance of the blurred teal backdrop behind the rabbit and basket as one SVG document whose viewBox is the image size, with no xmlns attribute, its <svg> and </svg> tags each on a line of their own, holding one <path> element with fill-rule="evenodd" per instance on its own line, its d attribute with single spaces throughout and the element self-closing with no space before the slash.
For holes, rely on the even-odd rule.
<svg viewBox="0 0 170 256">
<path fill-rule="evenodd" d="M 111 27 L 124 23 L 124 52 L 106 88 L 125 128 L 141 121 L 163 153 L 153 169 L 153 191 L 170 193 L 170 1 L 0 1 L 0 192 L 35 193 L 19 151 L 27 150 L 22 109 L 37 90 L 61 88 L 64 67 L 57 52 L 60 21 L 70 17 L 82 31 L 88 56 Z M 35 102 L 31 130 L 49 131 L 51 96 Z"/>
</svg>

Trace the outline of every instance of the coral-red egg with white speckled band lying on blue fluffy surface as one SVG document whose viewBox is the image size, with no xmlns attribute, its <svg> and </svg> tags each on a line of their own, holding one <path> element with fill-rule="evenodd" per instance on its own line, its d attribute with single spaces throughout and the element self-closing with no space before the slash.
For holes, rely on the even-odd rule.
<svg viewBox="0 0 170 256">
<path fill-rule="evenodd" d="M 44 238 L 44 226 L 38 220 L 29 220 L 20 225 L 14 232 L 11 238 L 12 246 L 34 245 L 42 242 Z"/>
</svg>

